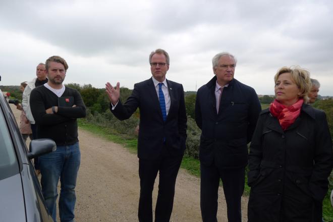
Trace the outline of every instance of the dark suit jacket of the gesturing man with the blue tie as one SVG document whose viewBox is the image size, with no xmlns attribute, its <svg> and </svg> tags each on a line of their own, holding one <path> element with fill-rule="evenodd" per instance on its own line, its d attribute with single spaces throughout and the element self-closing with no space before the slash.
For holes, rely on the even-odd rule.
<svg viewBox="0 0 333 222">
<path fill-rule="evenodd" d="M 164 145 L 171 155 L 183 155 L 186 141 L 186 109 L 184 89 L 179 83 L 167 80 L 171 105 L 167 120 L 163 122 L 158 96 L 152 78 L 134 85 L 132 95 L 122 104 L 118 102 L 111 112 L 119 119 L 126 120 L 139 107 L 140 129 L 138 157 L 156 159 Z"/>
</svg>

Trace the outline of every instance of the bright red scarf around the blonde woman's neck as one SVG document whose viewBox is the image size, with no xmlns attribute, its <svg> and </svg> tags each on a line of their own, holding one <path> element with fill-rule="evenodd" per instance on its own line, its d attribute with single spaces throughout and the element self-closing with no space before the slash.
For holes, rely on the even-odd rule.
<svg viewBox="0 0 333 222">
<path fill-rule="evenodd" d="M 299 99 L 296 103 L 287 107 L 274 99 L 274 101 L 270 103 L 269 111 L 274 117 L 278 118 L 282 129 L 286 130 L 300 115 L 302 104 L 303 99 Z"/>
</svg>

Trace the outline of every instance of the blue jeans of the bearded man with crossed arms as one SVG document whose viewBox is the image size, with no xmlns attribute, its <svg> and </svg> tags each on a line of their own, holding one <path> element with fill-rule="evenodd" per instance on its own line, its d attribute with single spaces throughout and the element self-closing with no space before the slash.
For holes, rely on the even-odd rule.
<svg viewBox="0 0 333 222">
<path fill-rule="evenodd" d="M 40 156 L 41 187 L 46 207 L 57 221 L 57 185 L 60 178 L 59 198 L 60 220 L 74 221 L 76 201 L 75 186 L 80 167 L 81 153 L 79 143 L 57 146 L 57 150 Z"/>
</svg>

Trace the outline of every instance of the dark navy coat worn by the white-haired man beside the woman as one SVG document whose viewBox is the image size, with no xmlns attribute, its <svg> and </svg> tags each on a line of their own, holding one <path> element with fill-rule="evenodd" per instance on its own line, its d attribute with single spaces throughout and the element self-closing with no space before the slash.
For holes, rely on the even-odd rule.
<svg viewBox="0 0 333 222">
<path fill-rule="evenodd" d="M 196 97 L 195 121 L 202 130 L 200 161 L 210 165 L 214 160 L 225 168 L 245 167 L 247 143 L 261 111 L 258 96 L 253 88 L 233 79 L 223 89 L 216 114 L 215 83 L 216 76 L 199 88 Z"/>
</svg>

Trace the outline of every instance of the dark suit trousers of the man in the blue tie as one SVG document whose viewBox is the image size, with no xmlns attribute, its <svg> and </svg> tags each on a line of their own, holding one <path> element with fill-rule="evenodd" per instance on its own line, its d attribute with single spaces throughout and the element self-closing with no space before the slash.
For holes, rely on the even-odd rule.
<svg viewBox="0 0 333 222">
<path fill-rule="evenodd" d="M 155 222 L 168 222 L 174 205 L 175 184 L 183 155 L 162 154 L 156 160 L 139 159 L 140 200 L 138 217 L 140 222 L 152 222 L 152 191 L 159 172 L 158 196 Z"/>
</svg>

